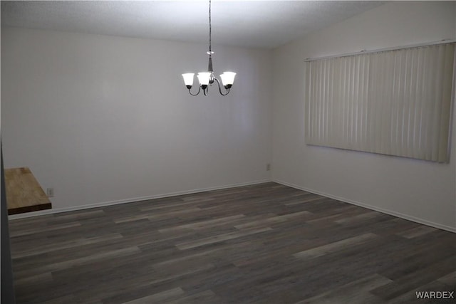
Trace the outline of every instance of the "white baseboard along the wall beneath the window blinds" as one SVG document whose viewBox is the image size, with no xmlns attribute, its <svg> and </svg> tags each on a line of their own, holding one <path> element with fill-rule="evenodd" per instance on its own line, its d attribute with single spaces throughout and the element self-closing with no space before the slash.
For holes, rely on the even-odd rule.
<svg viewBox="0 0 456 304">
<path fill-rule="evenodd" d="M 384 214 L 397 216 L 397 217 L 400 217 L 401 219 L 407 219 L 408 221 L 415 221 L 418 224 L 424 224 L 424 225 L 427 225 L 427 226 L 432 226 L 432 227 L 437 228 L 437 229 L 442 229 L 442 230 L 446 230 L 446 231 L 450 231 L 450 232 L 456 232 L 456 227 L 438 224 L 438 223 L 435 223 L 435 222 L 432 222 L 432 221 L 427 221 L 425 219 L 417 218 L 415 216 L 410 216 L 408 214 L 401 214 L 400 212 L 391 211 L 391 210 L 388 210 L 388 209 L 379 208 L 377 206 L 364 204 L 364 203 L 361 203 L 359 201 L 352 201 L 351 199 L 346 199 L 344 197 L 335 196 L 335 195 L 327 194 L 327 193 L 323 193 L 323 192 L 318 192 L 318 191 L 315 191 L 313 189 L 307 189 L 305 187 L 300 187 L 300 186 L 297 186 L 296 184 L 290 184 L 290 183 L 287 183 L 287 182 L 282 182 L 282 181 L 277 180 L 277 179 L 272 179 L 272 182 L 276 182 L 277 184 L 283 184 L 284 186 L 296 188 L 296 189 L 303 190 L 303 191 L 306 191 L 306 192 L 311 192 L 311 193 L 318 194 L 318 195 L 321 195 L 321 196 L 326 196 L 326 197 L 329 197 L 331 199 L 336 199 L 338 201 L 343 201 L 343 202 L 348 203 L 348 204 L 361 206 L 363 208 L 371 209 L 371 210 L 378 211 L 378 212 L 381 212 L 381 213 L 384 213 Z"/>
</svg>

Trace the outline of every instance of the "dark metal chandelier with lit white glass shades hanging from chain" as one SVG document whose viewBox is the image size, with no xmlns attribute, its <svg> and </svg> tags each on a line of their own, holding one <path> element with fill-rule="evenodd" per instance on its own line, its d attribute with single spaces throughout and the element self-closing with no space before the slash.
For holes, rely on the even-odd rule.
<svg viewBox="0 0 456 304">
<path fill-rule="evenodd" d="M 214 53 L 212 51 L 212 41 L 211 41 L 211 36 L 212 36 L 212 26 L 211 26 L 211 0 L 209 0 L 209 51 L 207 51 L 207 55 L 209 55 L 209 64 L 207 66 L 207 72 L 199 72 L 197 75 L 198 81 L 199 81 L 199 88 L 197 93 L 192 93 L 192 85 L 193 85 L 193 76 L 195 73 L 185 73 L 182 74 L 182 77 L 184 78 L 184 83 L 185 86 L 188 89 L 188 93 L 192 96 L 196 96 L 199 94 L 199 92 L 204 93 L 204 95 L 207 95 L 207 92 L 209 91 L 209 85 L 212 85 L 212 83 L 217 82 L 217 85 L 219 87 L 219 93 L 222 95 L 228 95 L 229 89 L 232 87 L 234 83 L 234 76 L 236 76 L 236 73 L 234 72 L 224 72 L 220 74 L 220 78 L 222 79 L 222 85 L 224 87 L 224 92 L 222 91 L 222 88 L 220 87 L 220 80 L 218 80 L 217 77 L 214 75 L 214 69 L 212 68 L 212 54 Z"/>
</svg>

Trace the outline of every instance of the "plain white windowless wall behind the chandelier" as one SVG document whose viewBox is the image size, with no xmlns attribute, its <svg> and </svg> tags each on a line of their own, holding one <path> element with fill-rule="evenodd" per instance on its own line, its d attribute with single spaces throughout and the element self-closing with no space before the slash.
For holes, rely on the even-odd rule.
<svg viewBox="0 0 456 304">
<path fill-rule="evenodd" d="M 271 51 L 214 46 L 226 97 L 187 93 L 205 44 L 1 29 L 5 167 L 30 167 L 54 209 L 270 178 Z"/>
</svg>

